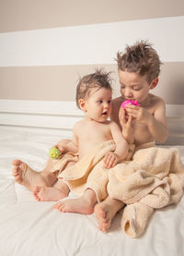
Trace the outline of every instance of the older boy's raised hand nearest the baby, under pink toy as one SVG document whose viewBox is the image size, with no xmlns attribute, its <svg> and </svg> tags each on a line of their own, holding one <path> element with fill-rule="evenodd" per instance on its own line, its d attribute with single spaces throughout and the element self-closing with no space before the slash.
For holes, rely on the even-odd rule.
<svg viewBox="0 0 184 256">
<path fill-rule="evenodd" d="M 122 107 L 119 111 L 119 119 L 122 127 L 122 134 L 128 143 L 133 142 L 132 115 L 127 115 L 126 110 Z"/>
</svg>

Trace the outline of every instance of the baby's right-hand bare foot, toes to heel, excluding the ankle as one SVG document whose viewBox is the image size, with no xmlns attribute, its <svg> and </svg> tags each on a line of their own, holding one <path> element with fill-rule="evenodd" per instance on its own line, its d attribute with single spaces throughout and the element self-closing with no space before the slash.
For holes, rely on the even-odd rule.
<svg viewBox="0 0 184 256">
<path fill-rule="evenodd" d="M 94 204 L 84 198 L 69 199 L 60 201 L 53 205 L 53 207 L 62 213 L 93 213 Z"/>
</svg>

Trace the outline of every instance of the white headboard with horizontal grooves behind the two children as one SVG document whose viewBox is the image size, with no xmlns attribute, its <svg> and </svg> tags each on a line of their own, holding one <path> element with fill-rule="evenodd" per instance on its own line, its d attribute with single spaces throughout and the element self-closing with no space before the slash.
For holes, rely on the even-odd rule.
<svg viewBox="0 0 184 256">
<path fill-rule="evenodd" d="M 83 117 L 75 102 L 0 100 L 0 126 L 41 129 L 71 138 L 73 126 Z M 167 104 L 169 136 L 165 144 L 184 145 L 184 107 Z"/>
</svg>

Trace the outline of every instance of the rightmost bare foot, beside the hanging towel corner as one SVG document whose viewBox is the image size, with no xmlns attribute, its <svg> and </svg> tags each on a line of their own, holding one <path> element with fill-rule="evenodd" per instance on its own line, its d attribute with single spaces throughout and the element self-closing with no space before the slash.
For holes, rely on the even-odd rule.
<svg viewBox="0 0 184 256">
<path fill-rule="evenodd" d="M 111 221 L 116 213 L 123 207 L 122 201 L 109 197 L 95 206 L 95 214 L 98 218 L 98 227 L 103 232 L 108 232 Z"/>
</svg>

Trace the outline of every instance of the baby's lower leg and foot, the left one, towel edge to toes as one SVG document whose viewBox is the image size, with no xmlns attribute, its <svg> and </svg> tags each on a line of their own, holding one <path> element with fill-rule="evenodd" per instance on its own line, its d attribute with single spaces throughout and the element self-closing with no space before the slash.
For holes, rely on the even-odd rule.
<svg viewBox="0 0 184 256">
<path fill-rule="evenodd" d="M 58 179 L 53 187 L 36 186 L 33 195 L 37 201 L 58 201 L 68 196 L 70 189 Z"/>
</svg>

